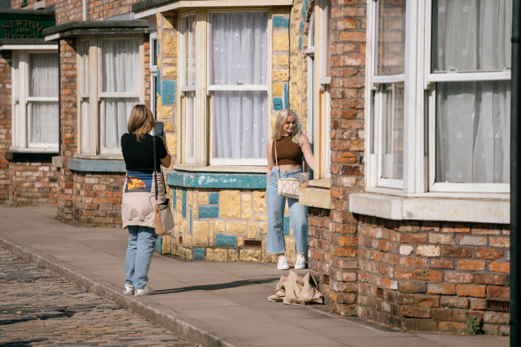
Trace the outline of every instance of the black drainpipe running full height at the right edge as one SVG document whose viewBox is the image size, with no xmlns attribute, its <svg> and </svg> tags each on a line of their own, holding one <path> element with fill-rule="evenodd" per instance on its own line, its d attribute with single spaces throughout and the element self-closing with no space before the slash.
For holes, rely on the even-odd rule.
<svg viewBox="0 0 521 347">
<path fill-rule="evenodd" d="M 521 185 L 521 1 L 514 1 L 512 8 L 512 96 L 510 131 L 510 345 L 521 346 L 520 298 L 521 298 L 521 214 L 519 213 L 519 192 Z"/>
</svg>

